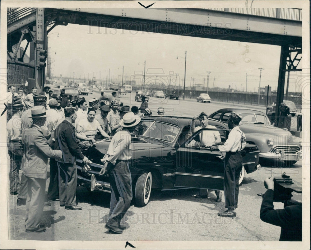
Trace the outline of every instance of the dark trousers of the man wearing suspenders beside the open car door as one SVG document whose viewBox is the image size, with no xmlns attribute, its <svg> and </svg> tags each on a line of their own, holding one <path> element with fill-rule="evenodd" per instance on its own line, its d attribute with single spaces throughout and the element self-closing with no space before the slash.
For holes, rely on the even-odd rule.
<svg viewBox="0 0 311 250">
<path fill-rule="evenodd" d="M 242 169 L 241 153 L 227 152 L 225 157 L 224 193 L 225 207 L 238 207 L 239 177 Z"/>
</svg>

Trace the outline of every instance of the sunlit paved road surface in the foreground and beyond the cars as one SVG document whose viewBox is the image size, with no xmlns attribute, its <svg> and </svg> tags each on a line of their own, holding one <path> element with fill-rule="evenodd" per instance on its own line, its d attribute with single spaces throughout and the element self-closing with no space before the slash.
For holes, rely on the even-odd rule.
<svg viewBox="0 0 311 250">
<path fill-rule="evenodd" d="M 99 93 L 86 96 L 86 100 L 98 97 Z M 123 96 L 124 105 L 140 106 L 131 98 Z M 157 102 L 156 102 L 157 101 Z M 185 113 L 194 115 L 201 111 L 210 114 L 228 104 L 197 103 L 193 100 L 156 100 L 150 98 L 149 107 L 156 112 L 163 106 L 165 113 Z M 258 108 L 258 107 L 257 107 Z M 246 174 L 240 186 L 239 207 L 234 219 L 217 216 L 225 211 L 224 202 L 215 202 L 215 193 L 209 198 L 196 199 L 197 189 L 173 191 L 152 190 L 150 202 L 145 207 L 132 205 L 124 217 L 127 229 L 123 234 L 110 234 L 104 228 L 109 215 L 109 193 L 88 192 L 84 187 L 77 188 L 77 201 L 81 211 L 65 210 L 59 202 L 44 208 L 42 222 L 46 225 L 45 233 L 25 233 L 25 206 L 16 206 L 16 196 L 7 194 L 10 238 L 16 240 L 118 240 L 120 248 L 129 240 L 144 241 L 278 241 L 280 228 L 264 223 L 259 219 L 262 198 L 258 193 L 265 192 L 263 180 L 271 175 L 280 176 L 286 172 L 296 183 L 302 181 L 302 163 L 298 161 L 290 168 L 274 166 L 271 161 L 260 162 L 262 168 Z M 8 174 L 8 173 L 7 173 Z M 49 179 L 47 181 L 47 186 Z M 294 194 L 301 201 L 301 195 Z M 223 198 L 224 199 L 224 198 Z M 224 201 L 224 200 L 223 200 Z M 282 208 L 282 203 L 275 203 L 275 208 Z M 131 243 L 133 243 L 131 241 Z M 124 243 L 124 244 L 123 244 Z M 135 245 L 135 244 L 134 244 Z M 182 246 L 180 246 L 182 248 Z"/>
</svg>

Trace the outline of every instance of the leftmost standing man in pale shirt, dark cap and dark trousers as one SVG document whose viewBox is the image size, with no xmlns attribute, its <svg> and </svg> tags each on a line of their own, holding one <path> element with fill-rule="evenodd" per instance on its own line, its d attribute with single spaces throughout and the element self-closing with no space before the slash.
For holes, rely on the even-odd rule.
<svg viewBox="0 0 311 250">
<path fill-rule="evenodd" d="M 21 113 L 24 105 L 15 102 L 12 105 L 12 118 L 7 123 L 7 148 L 10 155 L 10 192 L 15 195 L 19 189 L 19 170 L 23 157 L 21 144 Z"/>
</svg>

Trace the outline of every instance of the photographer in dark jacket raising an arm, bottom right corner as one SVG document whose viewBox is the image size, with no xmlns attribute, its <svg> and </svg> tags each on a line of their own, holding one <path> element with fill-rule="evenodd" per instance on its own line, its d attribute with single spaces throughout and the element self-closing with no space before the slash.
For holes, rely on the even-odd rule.
<svg viewBox="0 0 311 250">
<path fill-rule="evenodd" d="M 262 196 L 260 219 L 281 227 L 279 241 L 302 241 L 302 206 L 284 205 L 284 209 L 273 208 L 274 177 L 265 179 L 267 192 Z"/>
</svg>

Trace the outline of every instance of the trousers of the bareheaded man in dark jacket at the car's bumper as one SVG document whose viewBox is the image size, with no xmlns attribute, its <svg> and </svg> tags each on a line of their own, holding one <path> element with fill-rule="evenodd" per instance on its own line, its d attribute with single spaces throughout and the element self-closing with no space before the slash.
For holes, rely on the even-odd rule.
<svg viewBox="0 0 311 250">
<path fill-rule="evenodd" d="M 77 165 L 57 162 L 59 205 L 75 206 L 77 190 Z"/>
</svg>

